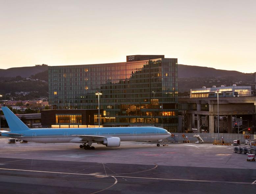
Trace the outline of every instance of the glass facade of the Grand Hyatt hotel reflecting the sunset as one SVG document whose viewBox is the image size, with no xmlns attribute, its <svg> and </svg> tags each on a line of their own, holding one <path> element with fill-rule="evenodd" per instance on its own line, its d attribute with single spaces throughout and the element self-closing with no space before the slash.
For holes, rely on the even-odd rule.
<svg viewBox="0 0 256 194">
<path fill-rule="evenodd" d="M 95 93 L 101 92 L 104 126 L 154 125 L 177 132 L 177 59 L 52 66 L 48 71 L 54 109 L 97 109 Z"/>
</svg>

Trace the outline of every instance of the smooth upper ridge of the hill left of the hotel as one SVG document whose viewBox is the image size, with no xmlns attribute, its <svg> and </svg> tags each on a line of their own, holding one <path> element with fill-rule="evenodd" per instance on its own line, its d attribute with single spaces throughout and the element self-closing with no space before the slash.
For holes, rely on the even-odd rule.
<svg viewBox="0 0 256 194">
<path fill-rule="evenodd" d="M 9 68 L 0 69 L 0 77 L 30 77 L 31 75 L 37 74 L 42 71 L 48 70 L 48 66 L 45 64 L 36 65 L 33 67 L 20 67 L 20 68 Z"/>
</svg>

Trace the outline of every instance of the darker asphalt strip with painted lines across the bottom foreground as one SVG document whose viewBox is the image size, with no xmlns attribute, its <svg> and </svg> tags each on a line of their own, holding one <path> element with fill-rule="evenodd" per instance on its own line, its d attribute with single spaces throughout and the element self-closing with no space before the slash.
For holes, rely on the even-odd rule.
<svg viewBox="0 0 256 194">
<path fill-rule="evenodd" d="M 256 170 L 0 158 L 1 193 L 255 193 Z"/>
</svg>

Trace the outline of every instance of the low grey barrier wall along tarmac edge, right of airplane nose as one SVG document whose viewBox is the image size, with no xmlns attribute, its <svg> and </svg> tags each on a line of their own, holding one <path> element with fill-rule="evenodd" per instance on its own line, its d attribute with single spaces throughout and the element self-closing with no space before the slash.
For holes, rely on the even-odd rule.
<svg viewBox="0 0 256 194">
<path fill-rule="evenodd" d="M 175 135 L 175 139 L 178 142 L 183 142 L 184 138 L 182 137 L 183 133 L 172 133 Z M 193 137 L 195 133 L 185 133 L 185 137 L 188 137 L 188 140 L 190 140 L 190 143 L 195 143 L 197 141 L 197 138 Z M 204 140 L 204 143 L 210 144 L 213 143 L 215 139 L 218 139 L 218 133 L 196 133 L 199 134 L 200 137 Z M 256 139 L 256 135 L 253 134 L 247 134 L 250 135 L 250 139 Z M 219 138 L 221 139 L 223 137 L 223 140 L 225 143 L 233 143 L 233 140 L 240 140 L 240 143 L 244 144 L 244 134 L 237 134 L 237 133 L 219 133 Z M 173 138 L 169 137 L 167 138 L 169 142 L 174 142 Z"/>
</svg>

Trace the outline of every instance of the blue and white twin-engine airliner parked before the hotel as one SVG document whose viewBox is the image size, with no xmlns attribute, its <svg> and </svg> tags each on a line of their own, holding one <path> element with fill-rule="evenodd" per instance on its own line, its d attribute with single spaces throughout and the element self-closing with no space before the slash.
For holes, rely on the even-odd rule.
<svg viewBox="0 0 256 194">
<path fill-rule="evenodd" d="M 0 135 L 37 143 L 80 143 L 80 148 L 95 149 L 92 143 L 119 147 L 121 141 L 157 141 L 170 137 L 166 129 L 153 126 L 95 128 L 29 128 L 8 107 L 2 107 L 10 131 Z M 157 146 L 160 146 L 158 143 Z"/>
</svg>

